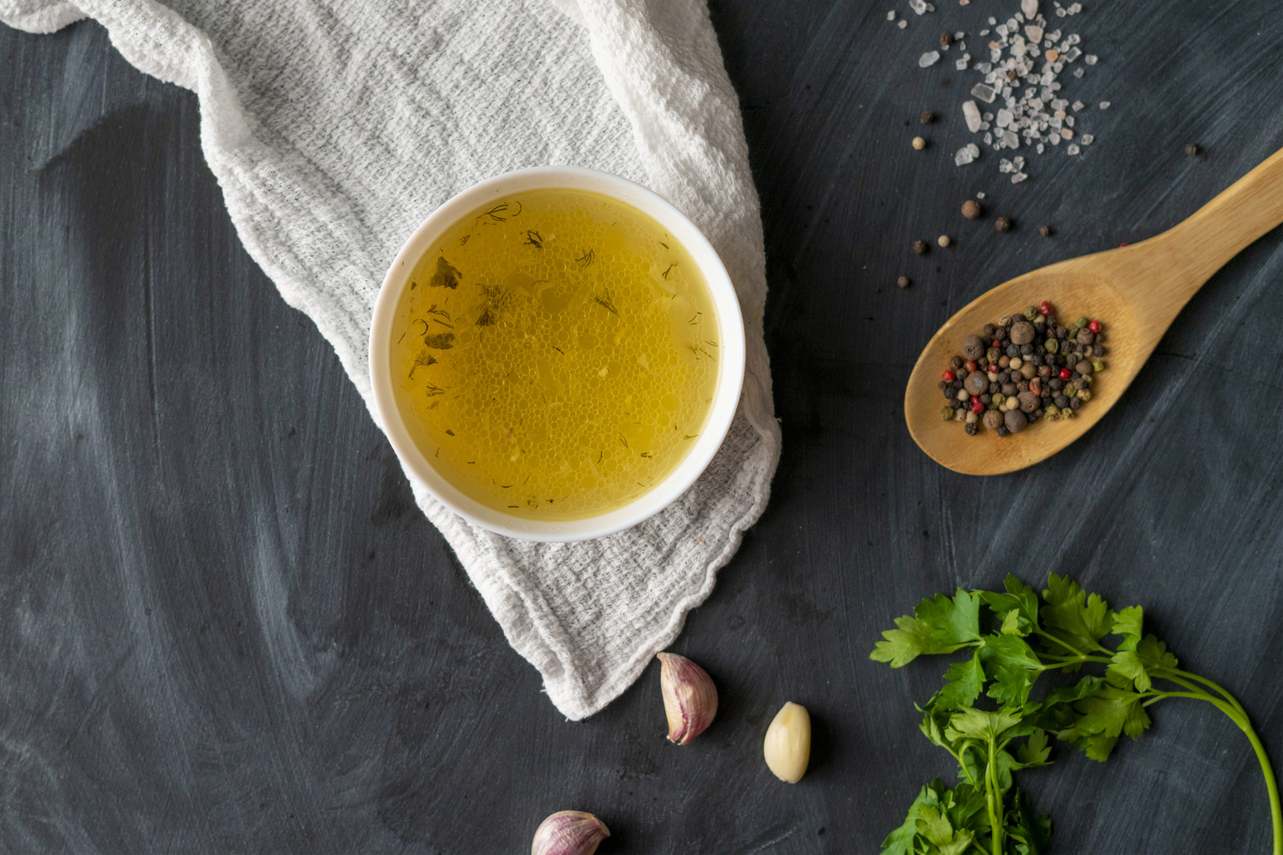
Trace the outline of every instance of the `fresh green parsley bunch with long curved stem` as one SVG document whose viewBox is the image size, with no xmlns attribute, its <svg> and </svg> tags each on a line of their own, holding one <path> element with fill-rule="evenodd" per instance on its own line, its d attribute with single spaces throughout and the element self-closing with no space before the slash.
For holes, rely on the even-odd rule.
<svg viewBox="0 0 1283 855">
<path fill-rule="evenodd" d="M 896 619 L 897 628 L 884 632 L 870 655 L 899 668 L 922 654 L 970 651 L 949 665 L 944 686 L 919 708 L 922 733 L 957 761 L 958 784 L 947 790 L 935 779 L 922 787 L 905 824 L 883 842 L 883 855 L 1046 851 L 1051 819 L 1033 813 L 1012 773 L 1049 765 L 1048 735 L 1103 761 L 1119 736 L 1135 740 L 1148 729 L 1146 710 L 1166 697 L 1207 701 L 1247 735 L 1269 790 L 1274 855 L 1283 855 L 1274 770 L 1233 695 L 1180 670 L 1168 646 L 1144 635 L 1141 606 L 1112 611 L 1100 596 L 1055 573 L 1042 597 L 1014 576 L 1005 587 L 958 588 L 952 599 L 922 600 L 912 615 Z M 1043 674 L 1084 665 L 1103 665 L 1103 674 L 1030 697 Z M 978 709 L 981 695 L 997 709 Z"/>
</svg>

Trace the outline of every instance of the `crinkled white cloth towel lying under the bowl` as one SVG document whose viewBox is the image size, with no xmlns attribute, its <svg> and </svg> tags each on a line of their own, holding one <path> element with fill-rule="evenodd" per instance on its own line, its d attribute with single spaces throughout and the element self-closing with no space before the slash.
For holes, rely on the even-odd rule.
<svg viewBox="0 0 1283 855">
<path fill-rule="evenodd" d="M 30 32 L 85 17 L 139 69 L 196 92 L 240 238 L 376 420 L 378 286 L 405 237 L 470 185 L 540 164 L 604 169 L 712 241 L 739 294 L 748 370 L 726 442 L 676 504 L 611 537 L 540 545 L 414 488 L 557 709 L 602 709 L 712 591 L 779 460 L 758 201 L 704 0 L 0 0 L 0 21 Z"/>
</svg>

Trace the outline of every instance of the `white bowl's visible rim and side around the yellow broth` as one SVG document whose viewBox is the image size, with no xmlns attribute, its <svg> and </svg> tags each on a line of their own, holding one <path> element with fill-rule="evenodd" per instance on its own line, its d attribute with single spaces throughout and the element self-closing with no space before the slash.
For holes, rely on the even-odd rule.
<svg viewBox="0 0 1283 855">
<path fill-rule="evenodd" d="M 590 190 L 633 205 L 659 222 L 670 235 L 686 247 L 695 264 L 699 265 L 712 294 L 721 335 L 717 391 L 708 413 L 708 420 L 686 458 L 649 492 L 627 505 L 582 519 L 513 517 L 466 496 L 438 473 L 430 459 L 411 440 L 396 405 L 391 382 L 393 318 L 396 314 L 396 305 L 409 273 L 418 259 L 431 247 L 441 232 L 490 200 L 547 187 Z M 370 332 L 370 377 L 375 387 L 375 405 L 378 408 L 378 415 L 384 422 L 387 438 L 391 440 L 393 449 L 396 450 L 396 455 L 405 464 L 405 468 L 443 505 L 482 528 L 509 537 L 548 542 L 590 540 L 635 526 L 663 510 L 695 482 L 699 473 L 713 459 L 730 428 L 735 408 L 739 404 L 740 386 L 744 382 L 744 320 L 739 311 L 735 288 L 731 286 L 730 277 L 726 274 L 721 259 L 717 258 L 717 253 L 695 224 L 668 201 L 640 185 L 595 169 L 577 167 L 518 169 L 482 181 L 454 196 L 438 208 L 405 241 L 384 278 L 378 303 L 375 304 L 375 323 Z"/>
</svg>

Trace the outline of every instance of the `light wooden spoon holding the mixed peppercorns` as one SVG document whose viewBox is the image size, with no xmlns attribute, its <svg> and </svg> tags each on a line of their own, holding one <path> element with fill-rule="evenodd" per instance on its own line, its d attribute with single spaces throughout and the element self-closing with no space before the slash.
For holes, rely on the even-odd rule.
<svg viewBox="0 0 1283 855">
<path fill-rule="evenodd" d="M 1141 372 L 1180 309 L 1245 246 L 1283 223 L 1283 151 L 1239 178 L 1189 219 L 1147 241 L 1025 273 L 983 294 L 926 342 L 905 391 L 913 441 L 943 467 L 973 476 L 1024 469 L 1056 454 L 1101 420 Z M 1106 370 L 1073 419 L 1041 419 L 1020 433 L 966 436 L 946 422 L 937 383 L 962 340 L 987 323 L 1048 300 L 1060 318 L 1105 324 Z"/>
</svg>

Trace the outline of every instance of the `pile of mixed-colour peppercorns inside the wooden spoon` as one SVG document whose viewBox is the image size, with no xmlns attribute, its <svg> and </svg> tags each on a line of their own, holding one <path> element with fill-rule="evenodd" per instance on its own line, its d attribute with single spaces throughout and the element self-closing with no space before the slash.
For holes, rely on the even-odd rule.
<svg viewBox="0 0 1283 855">
<path fill-rule="evenodd" d="M 962 422 L 967 436 L 981 426 L 1011 436 L 1043 418 L 1073 418 L 1105 370 L 1105 328 L 1085 317 L 1067 323 L 1060 326 L 1056 306 L 1043 300 L 964 338 L 962 354 L 940 374 L 940 418 Z"/>
</svg>

